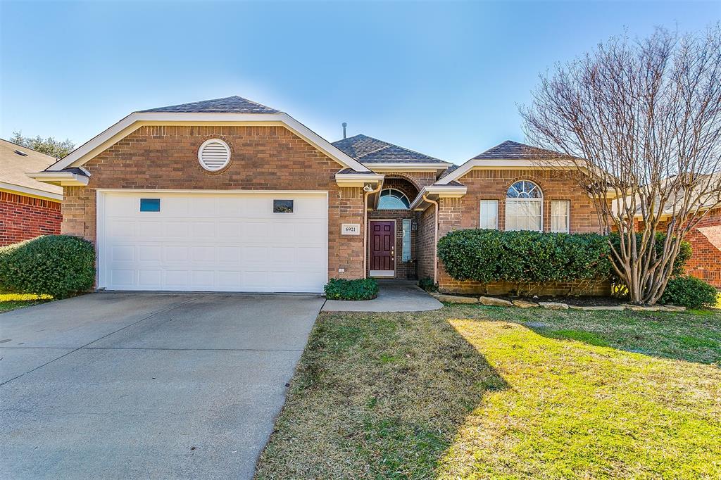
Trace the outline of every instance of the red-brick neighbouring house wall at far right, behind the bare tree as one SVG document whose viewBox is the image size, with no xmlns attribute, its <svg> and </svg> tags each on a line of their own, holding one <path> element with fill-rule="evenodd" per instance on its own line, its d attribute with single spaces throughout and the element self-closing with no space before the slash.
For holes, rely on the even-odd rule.
<svg viewBox="0 0 721 480">
<path fill-rule="evenodd" d="M 666 226 L 661 222 L 658 231 L 665 231 Z M 686 241 L 693 249 L 686 273 L 721 288 L 721 208 L 709 211 L 686 234 Z"/>
</svg>

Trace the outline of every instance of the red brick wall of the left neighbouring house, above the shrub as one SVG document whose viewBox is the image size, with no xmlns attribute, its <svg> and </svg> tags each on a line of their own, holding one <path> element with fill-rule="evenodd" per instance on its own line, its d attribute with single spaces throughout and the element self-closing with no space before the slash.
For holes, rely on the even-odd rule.
<svg viewBox="0 0 721 480">
<path fill-rule="evenodd" d="M 0 246 L 60 233 L 61 204 L 0 192 Z"/>
</svg>

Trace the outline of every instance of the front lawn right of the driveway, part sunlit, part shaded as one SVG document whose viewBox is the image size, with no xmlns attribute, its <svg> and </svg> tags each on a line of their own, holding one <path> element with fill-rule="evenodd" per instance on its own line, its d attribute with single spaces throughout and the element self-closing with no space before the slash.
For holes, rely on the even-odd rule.
<svg viewBox="0 0 721 480">
<path fill-rule="evenodd" d="M 321 314 L 259 479 L 719 478 L 721 314 Z"/>
</svg>

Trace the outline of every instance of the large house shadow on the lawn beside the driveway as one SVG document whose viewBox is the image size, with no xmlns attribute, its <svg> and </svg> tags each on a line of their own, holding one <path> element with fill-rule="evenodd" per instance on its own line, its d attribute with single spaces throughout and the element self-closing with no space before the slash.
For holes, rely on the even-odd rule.
<svg viewBox="0 0 721 480">
<path fill-rule="evenodd" d="M 258 478 L 428 478 L 484 395 L 506 388 L 438 316 L 321 314 Z"/>
</svg>

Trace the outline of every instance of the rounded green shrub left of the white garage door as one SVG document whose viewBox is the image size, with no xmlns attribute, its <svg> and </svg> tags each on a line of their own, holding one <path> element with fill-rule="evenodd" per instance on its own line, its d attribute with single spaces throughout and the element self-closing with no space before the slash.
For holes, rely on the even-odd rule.
<svg viewBox="0 0 721 480">
<path fill-rule="evenodd" d="M 95 249 L 74 236 L 48 235 L 0 248 L 0 290 L 66 298 L 92 288 Z"/>
</svg>

